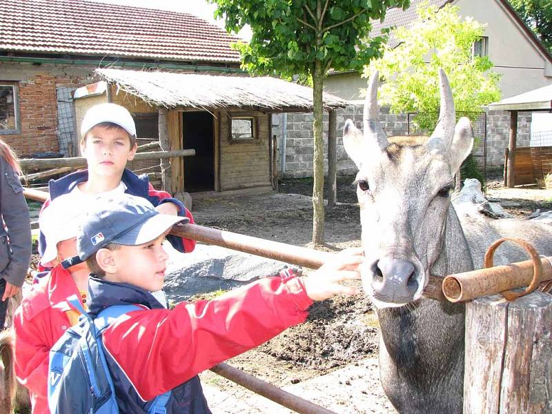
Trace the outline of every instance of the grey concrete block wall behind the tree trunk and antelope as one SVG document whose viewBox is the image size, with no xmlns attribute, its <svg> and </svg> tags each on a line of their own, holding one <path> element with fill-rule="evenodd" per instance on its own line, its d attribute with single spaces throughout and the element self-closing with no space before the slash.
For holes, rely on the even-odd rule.
<svg viewBox="0 0 552 414">
<path fill-rule="evenodd" d="M 362 104 L 349 105 L 337 111 L 337 174 L 351 175 L 357 171 L 353 161 L 346 154 L 342 130 L 346 119 L 352 119 L 362 130 Z M 282 125 L 284 114 L 273 116 L 273 135 L 278 137 L 278 171 L 280 177 L 312 177 L 313 175 L 313 115 L 293 113 L 286 116 L 286 160 L 282 171 Z M 407 135 L 408 117 L 406 114 L 391 114 L 382 108 L 380 119 L 389 136 Z M 517 146 L 529 146 L 531 112 L 519 112 Z M 324 114 L 324 171 L 328 172 L 328 115 Z M 486 133 L 487 168 L 500 168 L 504 164 L 504 148 L 508 146 L 510 128 L 509 112 L 487 112 Z"/>
</svg>

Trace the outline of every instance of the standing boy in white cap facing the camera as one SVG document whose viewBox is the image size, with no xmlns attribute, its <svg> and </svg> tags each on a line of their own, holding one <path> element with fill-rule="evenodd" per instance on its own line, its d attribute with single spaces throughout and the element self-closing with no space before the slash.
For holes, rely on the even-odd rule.
<svg viewBox="0 0 552 414">
<path fill-rule="evenodd" d="M 108 199 L 128 193 L 144 197 L 159 212 L 188 217 L 193 223 L 191 213 L 181 201 L 170 197 L 165 191 L 155 190 L 146 175 L 137 176 L 127 170 L 126 163 L 134 159 L 136 144 L 136 126 L 130 112 L 115 103 L 100 103 L 86 112 L 81 124 L 80 147 L 86 158 L 88 170 L 73 172 L 61 179 L 50 181 L 50 199 L 63 194 L 72 194 L 75 209 L 83 210 L 99 199 Z M 43 206 L 46 210 L 49 200 Z M 190 252 L 195 241 L 176 236 L 167 237 L 170 244 L 180 252 Z M 44 254 L 47 240 L 42 229 L 39 235 L 39 253 Z"/>
</svg>

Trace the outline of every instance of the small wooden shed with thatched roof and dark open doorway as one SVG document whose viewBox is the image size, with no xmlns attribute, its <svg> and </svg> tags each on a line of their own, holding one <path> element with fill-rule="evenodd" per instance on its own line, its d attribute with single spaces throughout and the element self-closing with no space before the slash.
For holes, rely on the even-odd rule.
<svg viewBox="0 0 552 414">
<path fill-rule="evenodd" d="M 271 115 L 313 110 L 311 88 L 272 77 L 119 69 L 95 73 L 102 80 L 75 93 L 77 131 L 90 106 L 110 101 L 132 113 L 138 138 L 159 139 L 164 150 L 194 149 L 193 157 L 170 159 L 167 189 L 175 195 L 272 191 L 276 140 Z M 324 96 L 324 107 L 334 116 L 345 105 Z M 335 129 L 335 122 L 330 124 Z M 335 137 L 335 130 L 330 135 Z"/>
</svg>

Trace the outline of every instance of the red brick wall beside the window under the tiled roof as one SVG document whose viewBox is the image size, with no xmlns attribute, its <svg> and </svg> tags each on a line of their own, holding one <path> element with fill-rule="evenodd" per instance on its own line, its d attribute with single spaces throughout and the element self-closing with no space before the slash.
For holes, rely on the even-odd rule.
<svg viewBox="0 0 552 414">
<path fill-rule="evenodd" d="M 92 82 L 92 68 L 0 63 L 0 81 L 17 82 L 21 134 L 1 135 L 19 156 L 59 152 L 57 88 Z"/>
</svg>

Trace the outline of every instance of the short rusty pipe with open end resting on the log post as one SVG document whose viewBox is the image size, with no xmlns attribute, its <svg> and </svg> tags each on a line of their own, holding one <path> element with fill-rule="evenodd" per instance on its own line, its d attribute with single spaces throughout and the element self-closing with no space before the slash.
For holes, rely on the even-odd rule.
<svg viewBox="0 0 552 414">
<path fill-rule="evenodd" d="M 552 259 L 552 258 L 551 258 Z M 542 275 L 539 282 L 552 280 L 552 264 L 541 257 Z M 495 295 L 506 290 L 529 286 L 533 279 L 533 262 L 526 260 L 504 266 L 495 266 L 471 272 L 449 275 L 443 281 L 443 293 L 451 302 L 462 302 L 475 297 Z"/>
</svg>

